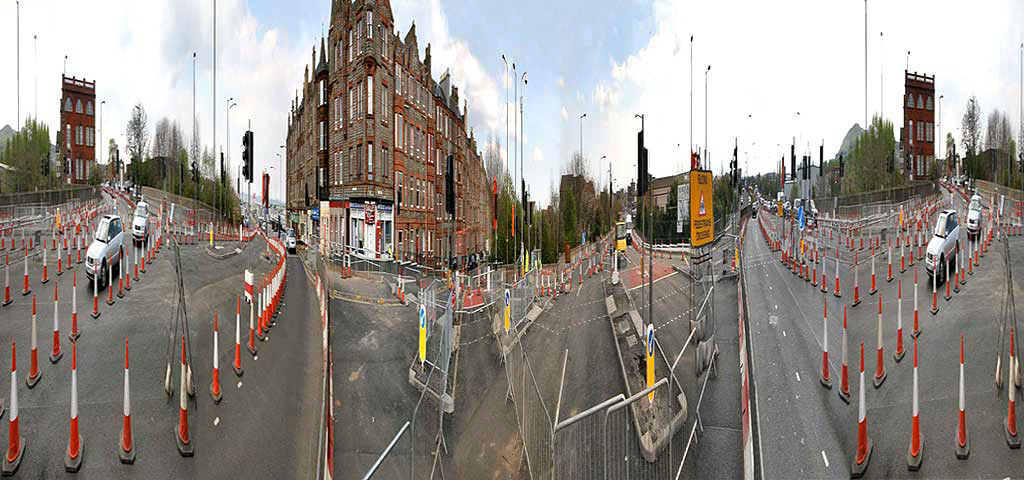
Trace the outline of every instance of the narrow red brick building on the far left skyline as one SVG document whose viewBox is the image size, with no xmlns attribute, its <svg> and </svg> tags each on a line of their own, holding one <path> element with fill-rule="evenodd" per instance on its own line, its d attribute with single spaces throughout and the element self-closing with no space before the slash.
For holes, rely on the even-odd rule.
<svg viewBox="0 0 1024 480">
<path fill-rule="evenodd" d="M 61 76 L 57 176 L 86 183 L 96 163 L 96 82 Z"/>
</svg>

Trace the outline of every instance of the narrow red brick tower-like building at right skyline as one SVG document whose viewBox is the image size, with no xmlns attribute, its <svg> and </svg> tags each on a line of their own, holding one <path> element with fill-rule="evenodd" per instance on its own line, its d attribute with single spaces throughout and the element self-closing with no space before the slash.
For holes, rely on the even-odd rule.
<svg viewBox="0 0 1024 480">
<path fill-rule="evenodd" d="M 903 74 L 904 172 L 910 180 L 924 180 L 935 160 L 935 76 Z"/>
</svg>

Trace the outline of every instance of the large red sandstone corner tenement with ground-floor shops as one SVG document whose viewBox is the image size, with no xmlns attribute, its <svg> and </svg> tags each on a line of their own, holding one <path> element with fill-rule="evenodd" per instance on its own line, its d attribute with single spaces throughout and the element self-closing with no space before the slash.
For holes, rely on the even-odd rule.
<svg viewBox="0 0 1024 480">
<path fill-rule="evenodd" d="M 489 183 L 458 87 L 447 72 L 432 78 L 430 46 L 421 57 L 415 24 L 404 36 L 394 32 L 387 0 L 336 1 L 331 10 L 314 76 L 310 62 L 289 115 L 290 223 L 300 235 L 317 232 L 322 249 L 427 265 L 484 253 Z M 449 155 L 455 224 L 443 204 Z"/>
</svg>

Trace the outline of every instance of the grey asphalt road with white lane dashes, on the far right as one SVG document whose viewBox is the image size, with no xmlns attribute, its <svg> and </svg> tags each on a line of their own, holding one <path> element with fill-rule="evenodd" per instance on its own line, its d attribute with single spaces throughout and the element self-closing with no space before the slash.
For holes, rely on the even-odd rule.
<svg viewBox="0 0 1024 480">
<path fill-rule="evenodd" d="M 963 206 L 961 206 L 963 208 Z M 1011 239 L 1014 258 L 1024 254 L 1024 241 Z M 939 313 L 930 313 L 931 293 L 926 291 L 922 262 L 920 280 L 919 393 L 925 461 L 913 476 L 1007 477 L 1018 474 L 1020 450 L 1010 450 L 1002 436 L 1006 390 L 992 384 L 998 349 L 999 302 L 1005 292 L 1001 248 L 981 259 L 961 294 L 951 301 L 939 297 Z M 868 435 L 874 442 L 866 475 L 874 478 L 907 477 L 906 451 L 910 440 L 913 341 L 913 269 L 903 274 L 903 347 L 907 356 L 893 359 L 896 347 L 896 290 L 898 280 L 884 280 L 879 268 L 879 294 L 868 294 L 869 267 L 860 275 L 862 303 L 850 308 L 853 275 L 841 273 L 843 297 L 826 295 L 784 269 L 778 254 L 771 254 L 757 228 L 748 229 L 744 247 L 753 353 L 766 478 L 846 477 L 856 448 L 858 356 L 865 348 Z M 881 266 L 882 264 L 877 266 Z M 866 274 L 865 274 L 866 272 Z M 820 273 L 819 273 L 820 274 Z M 829 282 L 835 272 L 828 270 Z M 1015 272 L 1015 277 L 1017 277 Z M 833 287 L 831 285 L 829 287 Z M 1018 282 L 1015 296 L 1022 294 Z M 941 287 L 940 287 L 941 289 Z M 930 289 L 929 289 L 930 290 Z M 884 364 L 887 379 L 880 389 L 871 386 L 877 367 L 878 303 L 883 301 Z M 829 372 L 834 387 L 818 383 L 823 342 L 822 309 L 828 305 Z M 848 306 L 850 391 L 849 405 L 838 397 L 842 362 L 843 307 Z M 958 339 L 966 335 L 967 419 L 972 450 L 967 461 L 953 454 L 958 382 Z M 1006 364 L 1006 363 L 1004 363 Z M 1005 369 L 1004 369 L 1004 375 Z M 1020 420 L 1018 419 L 1018 423 Z"/>
</svg>

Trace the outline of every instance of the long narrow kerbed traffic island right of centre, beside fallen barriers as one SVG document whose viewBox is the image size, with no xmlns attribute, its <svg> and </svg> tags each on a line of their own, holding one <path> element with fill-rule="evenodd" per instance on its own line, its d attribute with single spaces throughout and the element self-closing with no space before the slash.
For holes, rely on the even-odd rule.
<svg viewBox="0 0 1024 480">
<path fill-rule="evenodd" d="M 627 396 L 632 397 L 647 388 L 646 342 L 642 334 L 644 324 L 622 285 L 607 285 L 605 288 L 609 294 L 605 298 L 605 308 L 609 312 L 608 321 L 615 339 L 618 365 Z M 654 379 L 670 378 L 668 392 L 678 394 L 670 396 L 665 389 L 659 389 L 654 392 L 653 400 L 640 399 L 630 403 L 640 452 L 648 463 L 657 461 L 658 453 L 683 427 L 688 416 L 686 394 L 680 389 L 671 388 L 675 384 L 671 382 L 670 363 L 656 337 L 654 346 Z"/>
</svg>

